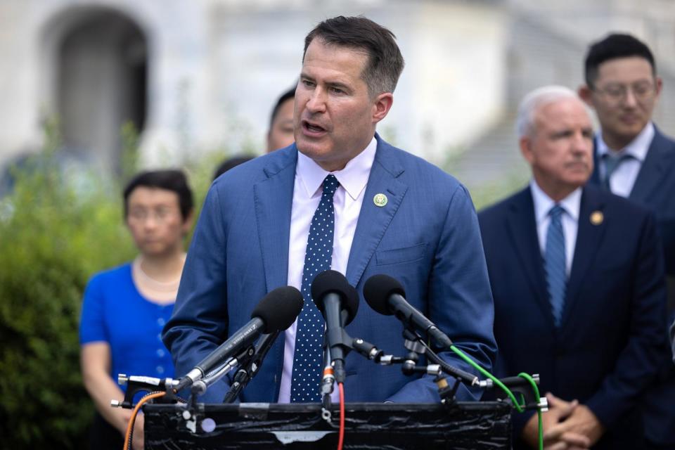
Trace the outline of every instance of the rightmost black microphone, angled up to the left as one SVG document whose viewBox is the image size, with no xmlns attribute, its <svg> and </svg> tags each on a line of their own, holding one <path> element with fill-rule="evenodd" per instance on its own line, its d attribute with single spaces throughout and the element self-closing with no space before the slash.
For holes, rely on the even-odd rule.
<svg viewBox="0 0 675 450">
<path fill-rule="evenodd" d="M 444 349 L 450 349 L 452 341 L 439 330 L 432 321 L 406 302 L 406 291 L 401 283 L 388 275 L 374 275 L 364 285 L 364 298 L 368 305 L 380 314 L 391 316 L 404 323 L 406 328 L 412 327 L 430 336 Z"/>
</svg>

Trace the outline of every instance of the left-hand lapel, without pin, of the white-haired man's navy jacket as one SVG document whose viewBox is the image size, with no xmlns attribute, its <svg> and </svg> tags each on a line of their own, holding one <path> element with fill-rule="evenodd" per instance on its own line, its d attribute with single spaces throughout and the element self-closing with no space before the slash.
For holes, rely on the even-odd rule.
<svg viewBox="0 0 675 450">
<path fill-rule="evenodd" d="M 506 218 L 506 226 L 525 278 L 532 290 L 532 296 L 553 329 L 553 312 L 551 302 L 548 300 L 548 290 L 546 290 L 546 276 L 534 217 L 534 202 L 529 187 L 513 197 L 510 214 Z"/>
</svg>

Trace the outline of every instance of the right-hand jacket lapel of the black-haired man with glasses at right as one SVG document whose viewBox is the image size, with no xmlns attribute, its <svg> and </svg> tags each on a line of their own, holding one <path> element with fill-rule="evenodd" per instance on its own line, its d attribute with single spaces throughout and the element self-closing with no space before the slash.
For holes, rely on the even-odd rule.
<svg viewBox="0 0 675 450">
<path fill-rule="evenodd" d="M 675 158 L 675 151 L 671 147 L 672 143 L 658 129 L 655 129 L 654 139 L 652 139 L 647 156 L 629 195 L 631 200 L 648 203 L 654 191 L 662 185 L 662 179 L 670 174 L 673 158 Z"/>
</svg>

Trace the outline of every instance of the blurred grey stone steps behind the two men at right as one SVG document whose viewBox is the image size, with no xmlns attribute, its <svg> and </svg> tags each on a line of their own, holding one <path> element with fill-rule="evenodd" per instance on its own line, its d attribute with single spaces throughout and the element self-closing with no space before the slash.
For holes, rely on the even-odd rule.
<svg viewBox="0 0 675 450">
<path fill-rule="evenodd" d="M 584 81 L 584 57 L 592 41 L 610 32 L 629 32 L 652 49 L 664 80 L 654 120 L 675 135 L 675 1 L 509 0 L 503 78 L 506 94 L 499 120 L 466 143 L 451 172 L 469 186 L 529 174 L 518 149 L 515 115 L 527 92 L 546 84 L 577 89 Z M 506 193 L 503 193 L 503 195 Z"/>
</svg>

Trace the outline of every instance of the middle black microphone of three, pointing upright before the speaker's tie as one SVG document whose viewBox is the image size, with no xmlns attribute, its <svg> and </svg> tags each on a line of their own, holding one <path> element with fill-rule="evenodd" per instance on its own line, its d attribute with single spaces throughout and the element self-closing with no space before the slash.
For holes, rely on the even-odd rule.
<svg viewBox="0 0 675 450">
<path fill-rule="evenodd" d="M 321 272 L 311 282 L 311 298 L 326 319 L 326 342 L 335 369 L 335 381 L 345 382 L 345 354 L 352 338 L 345 333 L 359 310 L 359 293 L 338 271 Z"/>
</svg>

